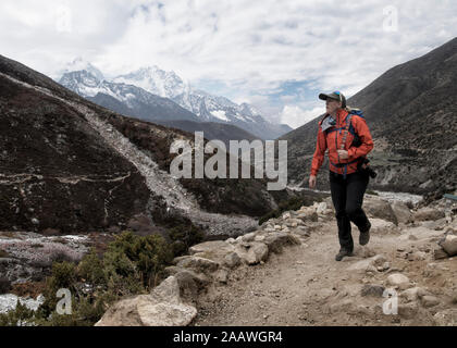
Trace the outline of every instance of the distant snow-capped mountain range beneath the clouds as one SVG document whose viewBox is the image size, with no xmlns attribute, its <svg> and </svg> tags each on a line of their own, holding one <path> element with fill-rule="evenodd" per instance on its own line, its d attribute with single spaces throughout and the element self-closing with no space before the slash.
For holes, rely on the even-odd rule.
<svg viewBox="0 0 457 348">
<path fill-rule="evenodd" d="M 180 120 L 181 117 L 186 121 L 236 125 L 261 139 L 276 139 L 292 130 L 286 125 L 274 125 L 268 122 L 252 105 L 247 103 L 239 105 L 227 98 L 195 89 L 174 72 L 165 72 L 158 66 L 143 67 L 116 76 L 110 82 L 103 77 L 99 70 L 83 60 L 75 60 L 70 66 L 81 70 L 70 71 L 67 67 L 60 84 L 95 102 L 100 103 L 102 99 L 104 107 L 108 107 L 107 101 L 109 101 L 110 107 L 120 102 L 129 109 L 138 109 L 139 103 L 139 109 L 147 109 L 148 103 L 157 103 L 157 96 L 159 96 L 173 101 L 192 114 L 192 116 L 183 113 L 173 115 L 172 112 L 166 112 L 166 117 L 170 120 Z M 118 107 L 120 108 L 120 105 Z M 137 111 L 131 112 L 131 114 L 141 114 L 141 117 L 145 119 L 144 112 Z M 162 112 L 160 120 L 165 120 L 163 116 Z"/>
</svg>

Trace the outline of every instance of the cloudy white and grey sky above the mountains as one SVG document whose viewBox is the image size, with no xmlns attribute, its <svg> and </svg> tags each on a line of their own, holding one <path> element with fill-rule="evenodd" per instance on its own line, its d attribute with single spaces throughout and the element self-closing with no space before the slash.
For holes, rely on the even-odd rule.
<svg viewBox="0 0 457 348">
<path fill-rule="evenodd" d="M 0 1 L 0 54 L 45 74 L 158 65 L 293 127 L 456 36 L 455 0 Z"/>
</svg>

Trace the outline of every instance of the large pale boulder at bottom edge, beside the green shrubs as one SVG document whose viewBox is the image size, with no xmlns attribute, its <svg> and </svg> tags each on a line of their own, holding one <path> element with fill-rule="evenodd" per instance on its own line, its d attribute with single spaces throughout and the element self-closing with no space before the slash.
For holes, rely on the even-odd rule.
<svg viewBox="0 0 457 348">
<path fill-rule="evenodd" d="M 196 315 L 197 309 L 182 301 L 176 277 L 170 276 L 150 295 L 114 303 L 96 326 L 187 326 Z"/>
</svg>

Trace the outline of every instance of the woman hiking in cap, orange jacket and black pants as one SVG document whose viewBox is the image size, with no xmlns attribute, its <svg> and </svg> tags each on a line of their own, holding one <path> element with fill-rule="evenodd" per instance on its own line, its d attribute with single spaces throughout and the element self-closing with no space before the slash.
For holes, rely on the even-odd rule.
<svg viewBox="0 0 457 348">
<path fill-rule="evenodd" d="M 329 150 L 330 188 L 341 245 L 335 260 L 342 261 L 344 257 L 353 256 L 354 251 L 350 222 L 360 231 L 360 245 L 365 246 L 370 240 L 371 223 L 361 208 L 370 177 L 361 167 L 366 167 L 366 157 L 374 146 L 362 114 L 350 112 L 343 94 L 321 94 L 319 99 L 326 101 L 326 114 L 319 123 L 309 187 L 316 188 L 319 169 Z"/>
</svg>

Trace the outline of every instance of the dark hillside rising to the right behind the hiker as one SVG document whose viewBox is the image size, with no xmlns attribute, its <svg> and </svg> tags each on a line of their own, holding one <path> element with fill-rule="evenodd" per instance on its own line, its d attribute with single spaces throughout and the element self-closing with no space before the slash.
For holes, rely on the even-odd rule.
<svg viewBox="0 0 457 348">
<path fill-rule="evenodd" d="M 416 192 L 457 189 L 457 38 L 395 66 L 348 100 L 374 138 L 372 186 Z M 318 121 L 287 134 L 289 178 L 309 176 Z M 326 163 L 326 162 L 325 162 Z M 328 164 L 319 182 L 326 187 Z"/>
</svg>

